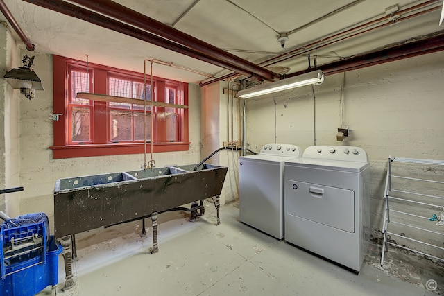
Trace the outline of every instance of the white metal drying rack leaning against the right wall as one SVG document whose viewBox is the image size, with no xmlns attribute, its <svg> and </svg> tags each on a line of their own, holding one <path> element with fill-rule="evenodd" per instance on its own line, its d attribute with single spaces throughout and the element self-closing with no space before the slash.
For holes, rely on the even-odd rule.
<svg viewBox="0 0 444 296">
<path fill-rule="evenodd" d="M 384 265 L 384 254 L 387 251 L 387 247 L 388 245 L 392 245 L 395 247 L 400 247 L 404 250 L 409 250 L 411 252 L 415 252 L 417 254 L 421 254 L 424 256 L 428 256 L 429 258 L 433 258 L 433 259 L 437 259 L 439 261 L 444 261 L 444 258 L 441 257 L 437 257 L 437 256 L 433 256 L 432 254 L 427 254 L 425 252 L 420 252 L 418 250 L 413 250 L 409 247 L 406 247 L 404 245 L 398 245 L 397 243 L 392 243 L 391 241 L 388 241 L 387 236 L 391 235 L 391 236 L 396 236 L 399 238 L 404 238 L 407 239 L 409 241 L 413 241 L 416 243 L 420 243 L 423 245 L 427 245 L 429 247 L 433 247 L 439 250 L 443 250 L 444 252 L 444 247 L 440 247 L 438 245 L 434 245 L 432 243 L 426 243 L 425 241 L 420 241 L 416 238 L 411 238 L 408 236 L 404 236 L 401 234 L 395 234 L 393 232 L 388 232 L 387 227 L 388 227 L 388 223 L 395 223 L 398 225 L 402 225 L 403 227 L 407 227 L 407 228 L 411 228 L 411 229 L 417 229 L 420 231 L 424 231 L 425 233 L 429 233 L 429 234 L 438 234 L 441 236 L 444 236 L 444 227 L 443 227 L 443 231 L 442 232 L 435 232 L 433 230 L 430 229 L 424 229 L 421 227 L 417 227 L 415 225 L 409 225 L 407 223 L 400 223 L 397 221 L 391 221 L 390 220 L 390 213 L 391 212 L 395 212 L 397 214 L 401 214 L 401 215 L 407 215 L 407 216 L 414 216 L 416 218 L 423 218 L 423 219 L 427 219 L 429 220 L 430 217 L 424 217 L 424 216 L 418 216 L 416 214 L 412 214 L 412 213 L 408 213 L 407 211 L 398 211 L 395 209 L 390 209 L 389 205 L 388 205 L 388 201 L 389 200 L 396 200 L 396 201 L 401 201 L 401 202 L 407 202 L 407 204 L 411 204 L 412 207 L 420 207 L 420 206 L 425 206 L 425 207 L 432 207 L 432 208 L 436 208 L 438 209 L 438 211 L 442 211 L 443 210 L 443 204 L 444 204 L 444 197 L 441 196 L 436 196 L 436 195 L 427 195 L 427 194 L 422 194 L 422 193 L 418 193 L 418 192 L 410 192 L 410 191 L 402 191 L 402 190 L 398 190 L 398 189 L 393 189 L 392 188 L 392 179 L 393 178 L 400 178 L 400 179 L 404 179 L 404 180 L 415 180 L 415 181 L 419 181 L 419 182 L 432 182 L 432 183 L 436 183 L 436 184 L 444 184 L 444 182 L 441 181 L 436 181 L 436 180 L 427 180 L 427 179 L 418 179 L 418 178 L 414 178 L 414 177 L 405 177 L 405 176 L 400 176 L 400 175 L 392 175 L 391 174 L 391 166 L 392 166 L 392 162 L 403 162 L 403 163 L 409 163 L 409 164 L 426 164 L 426 165 L 430 165 L 430 166 L 443 166 L 444 167 L 444 161 L 441 160 L 431 160 L 431 159 L 414 159 L 414 158 L 403 158 L 403 157 L 388 157 L 388 166 L 387 166 L 387 176 L 386 176 L 386 186 L 384 189 L 384 198 L 385 198 L 385 209 L 384 209 L 384 223 L 382 226 L 382 233 L 384 235 L 383 237 L 383 241 L 382 241 L 382 255 L 381 255 L 381 266 Z M 432 198 L 432 199 L 436 199 L 439 200 L 441 202 L 441 205 L 438 204 L 431 204 L 431 203 L 427 203 L 427 202 L 420 202 L 420 201 L 416 201 L 416 200 L 409 200 L 406 198 L 399 198 L 399 197 L 393 197 L 390 196 L 390 192 L 397 192 L 397 193 L 407 193 L 407 194 L 412 194 L 412 195 L 416 195 L 419 197 L 427 197 L 427 198 Z M 444 238 L 443 238 L 444 239 Z"/>
</svg>

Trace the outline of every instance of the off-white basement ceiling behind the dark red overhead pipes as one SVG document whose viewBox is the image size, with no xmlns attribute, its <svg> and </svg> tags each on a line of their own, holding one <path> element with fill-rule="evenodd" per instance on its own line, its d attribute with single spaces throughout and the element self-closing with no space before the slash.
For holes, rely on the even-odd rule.
<svg viewBox="0 0 444 296">
<path fill-rule="evenodd" d="M 141 73 L 146 58 L 173 62 L 214 77 L 232 73 L 33 3 L 3 1 L 35 44 L 36 52 Z M 285 67 L 288 73 L 444 30 L 443 26 L 438 26 L 442 0 L 115 2 L 262 67 Z M 1 14 L 0 19 L 6 21 Z M 12 31 L 12 27 L 9 28 Z M 282 34 L 288 35 L 284 48 L 277 41 Z M 13 32 L 12 35 L 24 49 L 17 34 Z M 35 60 L 36 64 L 38 62 Z M 153 75 L 191 83 L 212 81 L 201 73 L 160 64 L 153 64 Z"/>
</svg>

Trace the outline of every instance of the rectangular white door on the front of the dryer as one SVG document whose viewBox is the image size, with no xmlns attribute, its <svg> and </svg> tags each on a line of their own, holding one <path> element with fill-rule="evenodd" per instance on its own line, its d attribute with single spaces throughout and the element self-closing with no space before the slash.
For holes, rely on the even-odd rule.
<svg viewBox="0 0 444 296">
<path fill-rule="evenodd" d="M 326 226 L 355 232 L 355 193 L 352 190 L 287 180 L 285 207 L 297 216 Z"/>
</svg>

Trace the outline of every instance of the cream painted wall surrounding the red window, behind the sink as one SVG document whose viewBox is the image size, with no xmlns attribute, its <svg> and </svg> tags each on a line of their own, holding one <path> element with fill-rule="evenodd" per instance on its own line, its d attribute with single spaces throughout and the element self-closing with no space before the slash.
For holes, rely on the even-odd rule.
<svg viewBox="0 0 444 296">
<path fill-rule="evenodd" d="M 19 214 L 45 212 L 53 232 L 53 189 L 57 179 L 80 175 L 96 175 L 118 171 L 138 170 L 144 155 L 113 155 L 53 159 L 53 64 L 52 56 L 33 53 L 34 70 L 42 80 L 45 91 L 37 91 L 35 98 L 20 97 L 20 185 L 24 186 L 19 207 L 10 209 Z M 188 151 L 155 153 L 157 167 L 171 164 L 195 164 L 200 161 L 200 88 L 189 85 L 189 141 Z M 149 159 L 149 155 L 147 155 Z"/>
</svg>

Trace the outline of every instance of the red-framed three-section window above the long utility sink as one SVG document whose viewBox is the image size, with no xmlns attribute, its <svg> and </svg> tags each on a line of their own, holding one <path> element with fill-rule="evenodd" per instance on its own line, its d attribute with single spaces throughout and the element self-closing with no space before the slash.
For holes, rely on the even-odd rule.
<svg viewBox="0 0 444 296">
<path fill-rule="evenodd" d="M 153 107 L 150 101 L 188 105 L 188 85 L 142 73 L 53 57 L 54 158 L 188 150 L 188 110 Z M 77 98 L 78 92 L 137 98 L 144 103 L 106 103 Z M 152 95 L 153 94 L 153 95 Z M 151 96 L 153 98 L 151 98 Z M 148 147 L 148 150 L 151 149 Z"/>
</svg>

